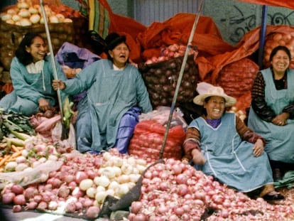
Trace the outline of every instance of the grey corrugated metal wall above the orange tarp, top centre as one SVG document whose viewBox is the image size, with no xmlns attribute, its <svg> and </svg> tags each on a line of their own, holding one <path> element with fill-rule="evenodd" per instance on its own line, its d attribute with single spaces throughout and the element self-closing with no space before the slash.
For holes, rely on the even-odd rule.
<svg viewBox="0 0 294 221">
<path fill-rule="evenodd" d="M 134 18 L 149 26 L 153 21 L 165 21 L 180 12 L 196 14 L 200 0 L 134 0 Z"/>
</svg>

